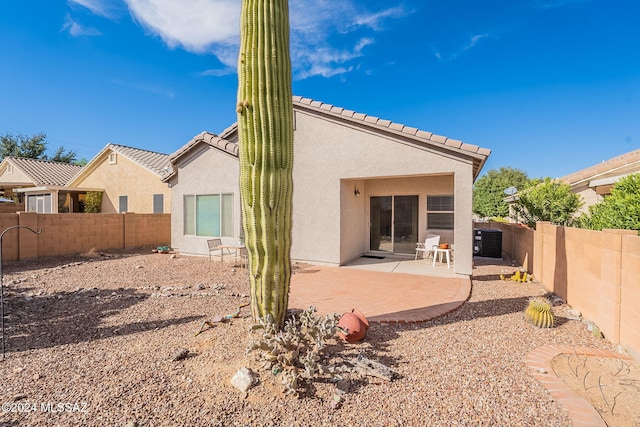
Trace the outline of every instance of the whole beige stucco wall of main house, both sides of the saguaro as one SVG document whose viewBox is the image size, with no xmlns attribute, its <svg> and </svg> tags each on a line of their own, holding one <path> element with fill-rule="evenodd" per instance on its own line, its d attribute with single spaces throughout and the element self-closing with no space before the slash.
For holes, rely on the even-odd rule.
<svg viewBox="0 0 640 427">
<path fill-rule="evenodd" d="M 296 112 L 293 167 L 291 257 L 341 265 L 368 251 L 369 198 L 374 195 L 419 196 L 419 240 L 426 225 L 427 195 L 454 194 L 455 233 L 443 242 L 455 245 L 455 272 L 471 274 L 472 160 L 447 149 L 436 151 L 371 128 L 327 121 Z M 170 184 L 172 246 L 183 253 L 206 254 L 206 237 L 183 235 L 185 194 L 233 193 L 234 229 L 240 234 L 238 159 L 201 144 L 177 162 Z M 354 195 L 359 187 L 360 196 Z"/>
</svg>

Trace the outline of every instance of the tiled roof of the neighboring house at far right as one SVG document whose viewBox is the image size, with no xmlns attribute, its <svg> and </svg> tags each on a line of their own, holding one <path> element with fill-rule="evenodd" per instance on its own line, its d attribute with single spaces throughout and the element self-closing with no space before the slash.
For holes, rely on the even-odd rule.
<svg viewBox="0 0 640 427">
<path fill-rule="evenodd" d="M 640 149 L 630 151 L 586 169 L 560 178 L 572 187 L 589 183 L 589 186 L 613 184 L 625 175 L 640 172 Z M 610 182 L 609 182 L 610 181 Z"/>
</svg>

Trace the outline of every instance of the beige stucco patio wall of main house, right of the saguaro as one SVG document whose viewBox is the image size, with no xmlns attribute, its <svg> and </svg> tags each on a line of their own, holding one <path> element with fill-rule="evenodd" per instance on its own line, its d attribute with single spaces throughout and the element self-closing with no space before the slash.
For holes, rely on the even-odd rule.
<svg viewBox="0 0 640 427">
<path fill-rule="evenodd" d="M 424 238 L 426 195 L 453 192 L 455 271 L 471 274 L 470 159 L 300 111 L 295 123 L 293 258 L 343 264 L 366 252 L 369 197 L 388 192 L 421 196 Z M 353 195 L 356 184 L 362 185 L 358 198 Z"/>
</svg>

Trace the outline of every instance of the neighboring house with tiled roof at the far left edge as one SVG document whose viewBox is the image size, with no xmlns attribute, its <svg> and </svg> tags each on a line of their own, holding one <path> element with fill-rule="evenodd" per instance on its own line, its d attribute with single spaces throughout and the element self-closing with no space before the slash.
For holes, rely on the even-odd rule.
<svg viewBox="0 0 640 427">
<path fill-rule="evenodd" d="M 0 194 L 24 201 L 28 211 L 77 212 L 78 198 L 65 184 L 80 169 L 69 163 L 5 157 L 0 163 Z"/>
</svg>

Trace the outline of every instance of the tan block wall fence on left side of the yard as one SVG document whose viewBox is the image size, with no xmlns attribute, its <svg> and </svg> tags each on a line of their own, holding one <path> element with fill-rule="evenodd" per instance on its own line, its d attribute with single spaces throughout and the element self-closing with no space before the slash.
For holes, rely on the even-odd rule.
<svg viewBox="0 0 640 427">
<path fill-rule="evenodd" d="M 91 250 L 127 249 L 171 244 L 170 214 L 37 214 L 0 213 L 2 260 L 19 261 Z"/>
</svg>

